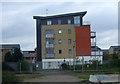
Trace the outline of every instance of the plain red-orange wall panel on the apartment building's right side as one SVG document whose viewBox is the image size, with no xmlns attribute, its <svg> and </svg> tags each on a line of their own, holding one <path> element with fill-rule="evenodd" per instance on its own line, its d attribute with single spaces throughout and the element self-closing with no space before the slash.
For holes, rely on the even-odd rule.
<svg viewBox="0 0 120 84">
<path fill-rule="evenodd" d="M 90 56 L 90 25 L 76 27 L 76 56 Z"/>
</svg>

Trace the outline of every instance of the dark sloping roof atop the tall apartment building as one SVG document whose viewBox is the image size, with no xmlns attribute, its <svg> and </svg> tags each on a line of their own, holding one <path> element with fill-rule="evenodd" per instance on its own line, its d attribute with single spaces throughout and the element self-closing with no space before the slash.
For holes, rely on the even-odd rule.
<svg viewBox="0 0 120 84">
<path fill-rule="evenodd" d="M 60 17 L 68 17 L 68 16 L 78 16 L 82 15 L 82 17 L 87 13 L 87 11 L 84 12 L 76 12 L 76 13 L 67 13 L 67 14 L 59 14 L 59 15 L 52 15 L 52 16 L 33 16 L 33 19 L 52 19 L 52 18 L 60 18 Z"/>
</svg>

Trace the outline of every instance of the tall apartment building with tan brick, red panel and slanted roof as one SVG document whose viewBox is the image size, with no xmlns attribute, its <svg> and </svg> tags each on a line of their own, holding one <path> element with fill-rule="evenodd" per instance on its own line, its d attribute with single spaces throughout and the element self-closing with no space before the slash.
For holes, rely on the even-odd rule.
<svg viewBox="0 0 120 84">
<path fill-rule="evenodd" d="M 84 25 L 85 12 L 53 16 L 33 16 L 36 19 L 37 61 L 102 60 L 96 46 L 96 32 Z"/>
</svg>

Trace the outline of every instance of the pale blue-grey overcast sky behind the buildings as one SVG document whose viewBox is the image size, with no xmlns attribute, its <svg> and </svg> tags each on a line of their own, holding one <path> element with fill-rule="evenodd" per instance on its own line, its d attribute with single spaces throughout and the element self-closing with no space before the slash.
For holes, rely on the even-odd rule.
<svg viewBox="0 0 120 84">
<path fill-rule="evenodd" d="M 97 33 L 97 45 L 106 49 L 118 44 L 117 2 L 3 2 L 2 43 L 20 44 L 22 50 L 36 47 L 35 15 L 87 11 L 84 21 Z"/>
</svg>

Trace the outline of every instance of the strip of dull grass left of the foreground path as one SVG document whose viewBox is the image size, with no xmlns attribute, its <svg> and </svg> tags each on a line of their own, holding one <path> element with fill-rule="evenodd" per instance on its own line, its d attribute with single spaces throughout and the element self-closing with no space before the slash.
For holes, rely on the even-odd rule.
<svg viewBox="0 0 120 84">
<path fill-rule="evenodd" d="M 25 79 L 42 77 L 41 74 L 16 74 L 16 77 L 22 82 Z"/>
</svg>

